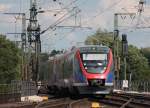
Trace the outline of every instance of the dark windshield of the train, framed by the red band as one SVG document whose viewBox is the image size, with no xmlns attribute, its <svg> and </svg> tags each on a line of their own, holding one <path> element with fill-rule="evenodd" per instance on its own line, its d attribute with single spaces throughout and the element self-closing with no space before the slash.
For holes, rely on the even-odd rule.
<svg viewBox="0 0 150 108">
<path fill-rule="evenodd" d="M 107 66 L 107 54 L 82 54 L 84 68 L 89 73 L 103 73 Z"/>
</svg>

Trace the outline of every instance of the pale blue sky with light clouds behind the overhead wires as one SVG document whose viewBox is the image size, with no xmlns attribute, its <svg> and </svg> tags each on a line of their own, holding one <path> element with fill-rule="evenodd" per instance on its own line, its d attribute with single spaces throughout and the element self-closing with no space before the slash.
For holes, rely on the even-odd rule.
<svg viewBox="0 0 150 108">
<path fill-rule="evenodd" d="M 138 12 L 140 0 L 37 0 L 41 30 L 55 25 L 62 16 L 64 20 L 53 29 L 41 35 L 43 51 L 66 49 L 93 35 L 97 29 L 114 30 L 114 13 L 135 13 L 135 16 L 119 16 L 120 35 L 126 33 L 129 44 L 139 48 L 150 47 L 150 0 L 144 0 L 142 14 Z M 8 33 L 21 32 L 21 18 L 4 13 L 26 13 L 29 18 L 30 0 L 0 0 L 0 34 L 11 40 L 20 40 L 20 35 Z M 61 11 L 60 11 L 61 10 Z M 59 12 L 58 12 L 59 11 Z M 77 13 L 77 14 L 76 14 Z M 71 17 L 70 17 L 71 16 Z M 28 20 L 27 24 L 28 25 Z M 62 26 L 81 26 L 64 28 Z M 139 27 L 140 29 L 137 29 Z"/>
</svg>

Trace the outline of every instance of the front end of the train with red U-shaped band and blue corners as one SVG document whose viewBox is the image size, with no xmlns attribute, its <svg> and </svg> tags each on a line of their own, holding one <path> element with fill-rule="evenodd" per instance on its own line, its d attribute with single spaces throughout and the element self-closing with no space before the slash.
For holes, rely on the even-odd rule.
<svg viewBox="0 0 150 108">
<path fill-rule="evenodd" d="M 75 86 L 80 94 L 109 94 L 114 79 L 113 56 L 106 46 L 80 47 L 75 60 Z"/>
</svg>

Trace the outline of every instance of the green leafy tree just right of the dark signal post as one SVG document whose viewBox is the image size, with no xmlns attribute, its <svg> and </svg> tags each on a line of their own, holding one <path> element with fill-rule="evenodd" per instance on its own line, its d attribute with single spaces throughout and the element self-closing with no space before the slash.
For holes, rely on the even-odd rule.
<svg viewBox="0 0 150 108">
<path fill-rule="evenodd" d="M 148 76 L 150 77 L 150 73 L 148 73 L 148 60 L 140 52 L 140 49 L 130 45 L 127 62 L 128 72 L 132 73 L 133 80 L 149 80 Z"/>
</svg>

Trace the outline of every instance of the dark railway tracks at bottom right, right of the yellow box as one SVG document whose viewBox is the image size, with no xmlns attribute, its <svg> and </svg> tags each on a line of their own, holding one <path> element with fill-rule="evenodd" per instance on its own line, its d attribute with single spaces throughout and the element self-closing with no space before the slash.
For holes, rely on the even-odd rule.
<svg viewBox="0 0 150 108">
<path fill-rule="evenodd" d="M 113 94 L 100 100 L 101 103 L 118 108 L 150 108 L 150 97 L 133 94 Z"/>
</svg>

